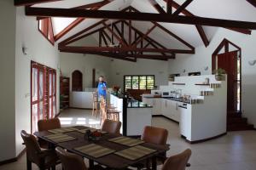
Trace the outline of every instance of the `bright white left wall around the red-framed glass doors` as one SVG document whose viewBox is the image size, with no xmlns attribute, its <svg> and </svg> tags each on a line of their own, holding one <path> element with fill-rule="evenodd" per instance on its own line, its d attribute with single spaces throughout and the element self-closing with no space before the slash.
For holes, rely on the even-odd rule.
<svg viewBox="0 0 256 170">
<path fill-rule="evenodd" d="M 23 7 L 16 8 L 16 57 L 15 57 L 15 124 L 16 124 L 16 156 L 24 148 L 20 131 L 31 132 L 31 99 L 30 79 L 31 61 L 47 65 L 57 72 L 57 96 L 59 96 L 59 52 L 38 31 L 38 21 L 35 17 L 26 17 Z M 22 53 L 22 47 L 28 49 L 28 54 Z M 57 97 L 57 113 L 59 112 L 59 98 Z"/>
</svg>

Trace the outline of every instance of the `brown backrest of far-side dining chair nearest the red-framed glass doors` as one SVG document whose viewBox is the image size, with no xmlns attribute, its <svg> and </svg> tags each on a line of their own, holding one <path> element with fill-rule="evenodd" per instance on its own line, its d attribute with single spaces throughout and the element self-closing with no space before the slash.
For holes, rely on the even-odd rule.
<svg viewBox="0 0 256 170">
<path fill-rule="evenodd" d="M 48 120 L 39 120 L 38 121 L 38 131 L 45 131 L 55 128 L 61 128 L 61 122 L 59 118 L 53 118 Z"/>
</svg>

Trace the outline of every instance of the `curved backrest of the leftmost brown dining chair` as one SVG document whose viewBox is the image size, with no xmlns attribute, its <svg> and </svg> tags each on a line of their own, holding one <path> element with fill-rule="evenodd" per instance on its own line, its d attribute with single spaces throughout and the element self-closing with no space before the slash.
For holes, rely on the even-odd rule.
<svg viewBox="0 0 256 170">
<path fill-rule="evenodd" d="M 38 140 L 36 137 L 34 137 L 32 134 L 26 133 L 25 130 L 22 130 L 21 138 L 24 141 L 24 144 L 26 145 L 26 157 L 29 159 L 29 161 L 39 163 L 40 157 L 39 154 L 41 153 L 41 148 L 38 144 Z"/>
</svg>

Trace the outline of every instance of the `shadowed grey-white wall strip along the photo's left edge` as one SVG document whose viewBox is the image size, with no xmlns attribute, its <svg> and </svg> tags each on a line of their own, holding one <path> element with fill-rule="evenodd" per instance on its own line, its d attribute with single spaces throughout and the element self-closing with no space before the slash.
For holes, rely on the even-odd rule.
<svg viewBox="0 0 256 170">
<path fill-rule="evenodd" d="M 15 7 L 0 1 L 0 161 L 15 157 Z"/>
</svg>

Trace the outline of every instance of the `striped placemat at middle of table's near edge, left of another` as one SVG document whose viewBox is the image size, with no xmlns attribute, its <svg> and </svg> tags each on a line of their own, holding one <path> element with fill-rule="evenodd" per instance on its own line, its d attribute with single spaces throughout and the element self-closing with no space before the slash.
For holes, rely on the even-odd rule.
<svg viewBox="0 0 256 170">
<path fill-rule="evenodd" d="M 74 148 L 74 150 L 95 158 L 107 156 L 108 154 L 115 152 L 115 150 L 111 150 L 98 144 L 86 144 L 84 146 Z"/>
</svg>

